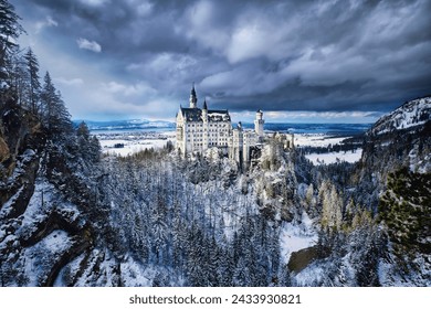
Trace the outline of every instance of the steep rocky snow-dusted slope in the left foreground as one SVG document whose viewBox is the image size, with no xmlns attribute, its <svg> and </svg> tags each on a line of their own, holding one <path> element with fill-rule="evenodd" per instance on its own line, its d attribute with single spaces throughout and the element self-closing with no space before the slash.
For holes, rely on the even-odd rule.
<svg viewBox="0 0 431 309">
<path fill-rule="evenodd" d="M 12 99 L 0 106 L 0 284 L 51 286 L 92 246 L 88 190 L 72 172 L 67 142 L 46 139 Z"/>
</svg>

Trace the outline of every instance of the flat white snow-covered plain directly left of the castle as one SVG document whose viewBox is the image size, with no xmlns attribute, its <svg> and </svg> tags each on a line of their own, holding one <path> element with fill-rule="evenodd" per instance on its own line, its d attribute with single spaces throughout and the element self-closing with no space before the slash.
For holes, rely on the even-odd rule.
<svg viewBox="0 0 431 309">
<path fill-rule="evenodd" d="M 101 141 L 102 151 L 106 154 L 127 157 L 129 154 L 150 148 L 162 148 L 170 140 L 175 142 L 175 131 L 148 132 L 148 131 L 125 131 L 103 132 L 96 137 Z M 123 145 L 122 148 L 116 145 Z"/>
</svg>

